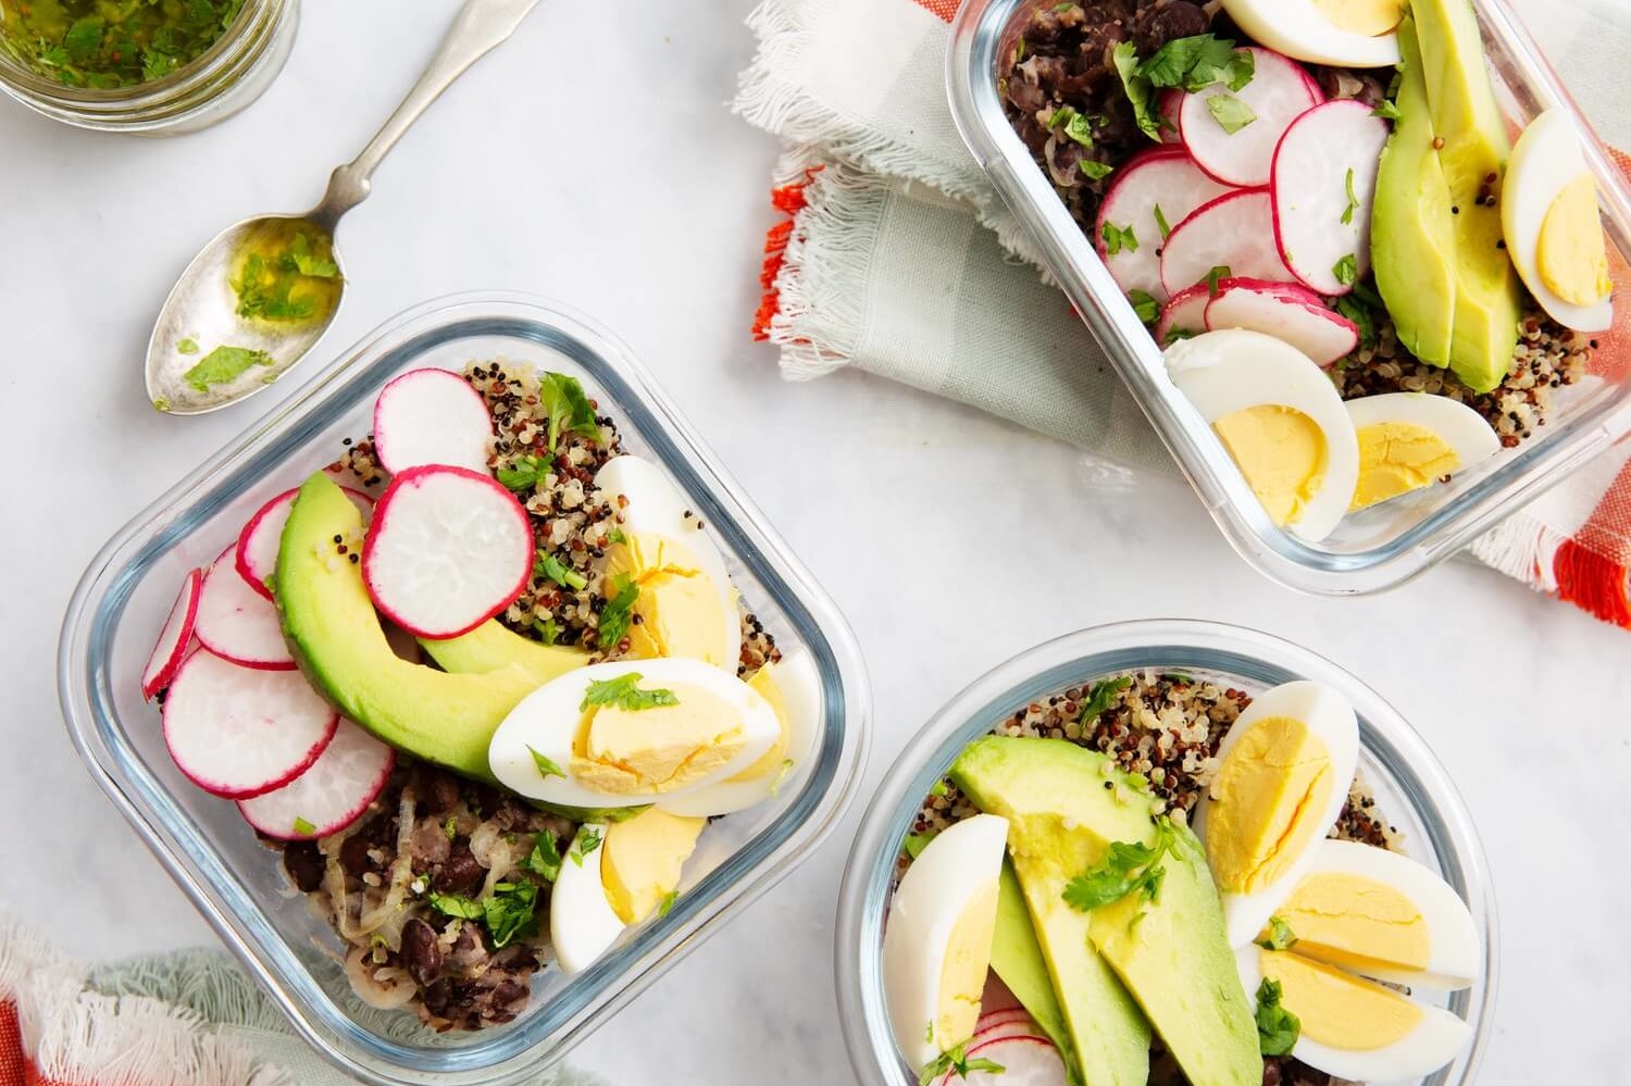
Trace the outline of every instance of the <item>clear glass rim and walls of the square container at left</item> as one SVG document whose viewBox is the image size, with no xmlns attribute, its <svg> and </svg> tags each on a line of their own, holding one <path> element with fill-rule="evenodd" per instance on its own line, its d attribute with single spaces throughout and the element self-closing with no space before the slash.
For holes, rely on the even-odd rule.
<svg viewBox="0 0 1631 1086">
<path fill-rule="evenodd" d="M 665 916 L 571 982 L 543 969 L 514 1022 L 435 1034 L 413 1013 L 375 1011 L 352 995 L 339 938 L 307 910 L 279 853 L 256 840 L 232 802 L 188 783 L 170 762 L 139 677 L 184 572 L 209 564 L 271 496 L 334 460 L 343 437 L 365 435 L 385 382 L 408 369 L 457 370 L 497 355 L 577 377 L 618 422 L 625 448 L 667 471 L 778 644 L 811 654 L 822 716 L 806 766 L 773 799 L 703 833 Z M 512 294 L 455 295 L 387 321 L 126 525 L 69 605 L 57 680 L 69 734 L 101 789 L 300 1035 L 375 1084 L 537 1081 L 825 837 L 856 784 L 869 713 L 866 672 L 843 618 L 667 395 L 605 329 Z"/>
</svg>

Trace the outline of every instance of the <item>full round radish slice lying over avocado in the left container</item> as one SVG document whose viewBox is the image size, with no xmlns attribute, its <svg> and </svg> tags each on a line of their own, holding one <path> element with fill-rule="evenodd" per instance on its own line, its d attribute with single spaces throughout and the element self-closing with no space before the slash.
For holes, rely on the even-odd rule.
<svg viewBox="0 0 1631 1086">
<path fill-rule="evenodd" d="M 532 525 L 515 496 L 466 468 L 391 479 L 362 545 L 375 605 L 421 638 L 457 638 L 509 607 L 532 572 Z"/>
</svg>

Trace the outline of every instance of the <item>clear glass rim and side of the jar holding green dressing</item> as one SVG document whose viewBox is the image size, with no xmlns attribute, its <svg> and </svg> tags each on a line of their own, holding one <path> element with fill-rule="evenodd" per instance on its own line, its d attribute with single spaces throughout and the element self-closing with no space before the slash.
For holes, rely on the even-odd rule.
<svg viewBox="0 0 1631 1086">
<path fill-rule="evenodd" d="M 0 90 L 80 129 L 197 132 L 245 109 L 272 85 L 294 49 L 298 21 L 300 0 L 245 0 L 238 18 L 202 54 L 163 78 L 117 90 L 67 86 L 0 51 Z"/>
</svg>

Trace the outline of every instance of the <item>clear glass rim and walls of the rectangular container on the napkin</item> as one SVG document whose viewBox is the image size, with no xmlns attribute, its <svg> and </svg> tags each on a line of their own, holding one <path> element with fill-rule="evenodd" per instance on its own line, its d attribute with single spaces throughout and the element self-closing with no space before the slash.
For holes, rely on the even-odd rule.
<svg viewBox="0 0 1631 1086">
<path fill-rule="evenodd" d="M 1631 373 L 1598 372 L 1554 390 L 1546 429 L 1517 448 L 1414 494 L 1349 515 L 1321 543 L 1277 527 L 1228 452 L 1166 375 L 1161 351 L 1003 113 L 997 90 L 1026 20 L 1047 0 L 964 0 L 946 54 L 951 113 L 997 192 L 1028 227 L 1049 271 L 1132 390 L 1212 519 L 1248 563 L 1293 589 L 1349 595 L 1390 589 L 1455 554 L 1523 502 L 1631 434 Z M 1631 189 L 1505 0 L 1473 0 L 1496 95 L 1527 124 L 1562 106 L 1597 178 L 1610 263 L 1631 259 Z M 1595 339 L 1598 360 L 1631 346 L 1631 298 Z M 1621 367 L 1623 369 L 1623 367 Z"/>
</svg>

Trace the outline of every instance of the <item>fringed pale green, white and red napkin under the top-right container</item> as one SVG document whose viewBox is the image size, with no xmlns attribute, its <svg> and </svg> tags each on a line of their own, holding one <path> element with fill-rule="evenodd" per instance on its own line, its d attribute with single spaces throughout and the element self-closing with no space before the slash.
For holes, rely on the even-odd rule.
<svg viewBox="0 0 1631 1086">
<path fill-rule="evenodd" d="M 1562 75 L 1598 134 L 1631 145 L 1631 5 L 1515 7 L 1549 57 L 1567 57 Z M 793 380 L 858 367 L 1073 442 L 1107 466 L 1173 471 L 953 126 L 944 57 L 956 10 L 957 0 L 765 0 L 749 18 L 758 54 L 734 109 L 786 143 L 771 189 L 785 219 L 765 243 L 754 336 L 781 349 Z M 1616 158 L 1631 173 L 1631 158 Z M 1593 367 L 1631 364 L 1608 354 Z M 1473 554 L 1631 628 L 1628 460 L 1623 442 Z"/>
</svg>

